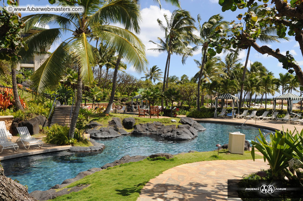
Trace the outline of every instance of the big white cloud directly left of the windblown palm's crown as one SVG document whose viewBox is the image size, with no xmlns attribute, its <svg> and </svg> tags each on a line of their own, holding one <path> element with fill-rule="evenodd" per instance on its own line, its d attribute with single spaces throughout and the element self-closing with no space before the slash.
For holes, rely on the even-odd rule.
<svg viewBox="0 0 303 201">
<path fill-rule="evenodd" d="M 157 43 L 157 37 L 162 39 L 164 38 L 165 33 L 160 29 L 157 19 L 159 18 L 163 22 L 163 25 L 166 26 L 166 21 L 163 15 L 167 14 L 167 16 L 170 17 L 172 13 L 163 8 L 160 10 L 158 6 L 152 5 L 149 8 L 143 8 L 141 13 L 142 22 L 140 23 L 141 32 L 139 34 L 139 38 L 146 47 L 146 55 L 157 57 L 161 53 L 148 50 L 151 48 L 157 48 L 157 45 L 148 41 L 152 40 Z"/>
</svg>

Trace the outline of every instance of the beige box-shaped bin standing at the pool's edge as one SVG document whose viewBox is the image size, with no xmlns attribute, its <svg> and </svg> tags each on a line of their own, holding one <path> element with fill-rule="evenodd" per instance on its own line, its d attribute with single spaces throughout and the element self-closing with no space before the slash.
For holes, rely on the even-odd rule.
<svg viewBox="0 0 303 201">
<path fill-rule="evenodd" d="M 228 151 L 229 153 L 244 154 L 245 134 L 240 132 L 229 133 Z"/>
</svg>

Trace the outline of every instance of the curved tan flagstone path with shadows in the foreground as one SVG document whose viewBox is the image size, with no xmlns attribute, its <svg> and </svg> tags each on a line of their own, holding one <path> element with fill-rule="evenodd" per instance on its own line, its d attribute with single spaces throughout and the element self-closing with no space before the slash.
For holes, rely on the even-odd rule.
<svg viewBox="0 0 303 201">
<path fill-rule="evenodd" d="M 268 168 L 263 159 L 215 160 L 179 165 L 146 183 L 137 201 L 237 200 L 227 199 L 227 179 L 241 179 L 245 174 Z"/>
</svg>

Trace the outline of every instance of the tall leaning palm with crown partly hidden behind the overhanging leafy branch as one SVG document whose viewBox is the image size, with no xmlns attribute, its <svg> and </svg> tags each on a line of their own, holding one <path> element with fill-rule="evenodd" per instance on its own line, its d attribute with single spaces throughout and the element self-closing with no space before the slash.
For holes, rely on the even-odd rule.
<svg viewBox="0 0 303 201">
<path fill-rule="evenodd" d="M 248 12 L 250 12 L 252 14 L 256 14 L 257 16 L 259 14 L 262 15 L 263 8 L 261 8 L 261 7 L 262 6 L 249 8 Z M 258 23 L 256 23 L 255 25 L 258 25 Z M 246 24 L 245 28 L 250 29 L 250 24 Z M 275 27 L 266 27 L 261 30 L 261 33 L 259 34 L 259 37 L 257 39 L 262 43 L 272 43 L 272 42 L 280 43 L 280 41 L 279 41 L 280 39 L 288 40 L 287 37 L 279 38 L 276 33 L 277 33 L 277 30 Z M 247 49 L 247 55 L 246 55 L 244 70 L 243 70 L 242 79 L 241 79 L 240 100 L 239 100 L 240 105 L 242 105 L 242 95 L 243 95 L 243 88 L 244 88 L 244 81 L 245 81 L 245 73 L 246 73 L 247 64 L 248 64 L 248 60 L 249 60 L 250 48 L 251 48 L 251 46 L 249 46 Z"/>
</svg>

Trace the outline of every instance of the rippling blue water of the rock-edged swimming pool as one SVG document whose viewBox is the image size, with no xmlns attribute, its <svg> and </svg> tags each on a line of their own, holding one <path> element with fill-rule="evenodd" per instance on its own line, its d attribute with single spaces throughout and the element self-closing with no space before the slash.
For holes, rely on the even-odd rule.
<svg viewBox="0 0 303 201">
<path fill-rule="evenodd" d="M 247 140 L 254 140 L 259 130 L 235 128 L 232 124 L 201 123 L 206 131 L 187 141 L 168 141 L 157 136 L 124 135 L 118 138 L 97 140 L 104 143 L 101 153 L 72 153 L 68 151 L 15 158 L 1 162 L 4 174 L 17 179 L 28 186 L 28 192 L 47 190 L 55 184 L 61 184 L 67 178 L 75 177 L 79 172 L 90 168 L 99 168 L 124 155 L 151 155 L 153 153 L 181 153 L 189 150 L 211 151 L 216 144 L 228 143 L 229 132 L 240 131 Z M 262 133 L 270 130 L 261 129 Z"/>
</svg>

